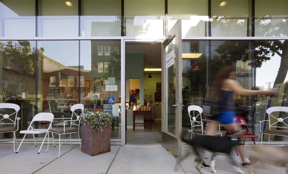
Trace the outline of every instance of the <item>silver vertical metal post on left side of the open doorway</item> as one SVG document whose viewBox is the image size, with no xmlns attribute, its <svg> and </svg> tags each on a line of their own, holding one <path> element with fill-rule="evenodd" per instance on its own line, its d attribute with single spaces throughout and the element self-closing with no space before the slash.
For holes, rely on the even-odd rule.
<svg viewBox="0 0 288 174">
<path fill-rule="evenodd" d="M 121 84 L 125 84 L 125 43 L 124 43 L 124 39 L 121 39 Z M 125 126 L 126 126 L 126 98 L 125 98 L 125 85 L 121 85 L 121 120 L 122 124 L 121 124 L 121 146 L 125 145 Z M 123 96 L 124 94 L 124 96 Z"/>
</svg>

